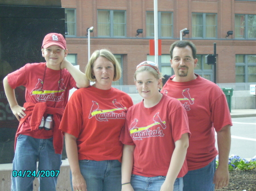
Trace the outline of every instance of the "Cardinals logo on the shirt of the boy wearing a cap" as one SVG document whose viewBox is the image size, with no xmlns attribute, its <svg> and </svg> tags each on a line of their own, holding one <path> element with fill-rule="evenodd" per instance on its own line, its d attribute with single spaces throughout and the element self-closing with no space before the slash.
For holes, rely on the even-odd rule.
<svg viewBox="0 0 256 191">
<path fill-rule="evenodd" d="M 30 92 L 31 96 L 35 96 L 36 101 L 62 101 L 64 99 L 64 91 L 66 87 L 63 83 L 63 79 L 58 82 L 57 90 L 44 90 L 43 80 L 38 78 L 38 83 L 35 88 Z"/>
</svg>

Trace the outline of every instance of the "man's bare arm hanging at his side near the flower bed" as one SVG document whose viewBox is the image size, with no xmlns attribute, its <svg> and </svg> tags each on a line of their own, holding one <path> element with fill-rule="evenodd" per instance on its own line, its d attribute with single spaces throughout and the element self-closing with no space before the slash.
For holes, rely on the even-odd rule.
<svg viewBox="0 0 256 191">
<path fill-rule="evenodd" d="M 229 184 L 229 152 L 231 145 L 230 125 L 217 132 L 218 168 L 214 174 L 215 189 L 221 189 Z"/>
</svg>

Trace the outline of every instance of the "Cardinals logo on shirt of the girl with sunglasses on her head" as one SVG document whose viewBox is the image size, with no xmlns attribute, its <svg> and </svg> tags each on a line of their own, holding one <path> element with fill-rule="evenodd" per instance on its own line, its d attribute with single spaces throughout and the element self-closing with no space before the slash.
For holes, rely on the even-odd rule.
<svg viewBox="0 0 256 191">
<path fill-rule="evenodd" d="M 154 121 L 154 123 L 147 125 L 145 127 L 138 128 L 137 123 L 139 120 L 135 118 L 130 125 L 131 137 L 137 140 L 142 140 L 142 138 L 148 137 L 163 137 L 164 133 L 162 129 L 166 129 L 166 121 L 161 120 L 159 112 L 154 115 L 152 120 Z M 155 130 L 150 130 L 150 128 L 152 128 L 153 126 L 158 126 L 158 128 L 156 128 Z"/>
</svg>

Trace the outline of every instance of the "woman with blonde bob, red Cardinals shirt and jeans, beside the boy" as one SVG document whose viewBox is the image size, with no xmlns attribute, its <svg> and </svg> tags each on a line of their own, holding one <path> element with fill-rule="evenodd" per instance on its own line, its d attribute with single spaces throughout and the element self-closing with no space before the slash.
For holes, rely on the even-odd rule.
<svg viewBox="0 0 256 191">
<path fill-rule="evenodd" d="M 109 50 L 96 50 L 85 68 L 93 86 L 73 93 L 60 129 L 71 167 L 73 190 L 121 190 L 122 143 L 119 134 L 133 101 L 112 87 L 121 67 Z"/>
</svg>

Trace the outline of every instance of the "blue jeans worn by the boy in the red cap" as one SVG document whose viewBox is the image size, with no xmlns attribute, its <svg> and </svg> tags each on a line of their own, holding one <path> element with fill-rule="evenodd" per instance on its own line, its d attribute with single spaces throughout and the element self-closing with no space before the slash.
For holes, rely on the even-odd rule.
<svg viewBox="0 0 256 191">
<path fill-rule="evenodd" d="M 16 141 L 16 150 L 13 159 L 14 171 L 23 175 L 24 171 L 30 170 L 31 173 L 36 171 L 36 160 L 39 160 L 38 170 L 42 171 L 59 171 L 61 165 L 61 155 L 55 154 L 52 138 L 36 139 L 27 135 L 20 134 Z M 12 191 L 32 191 L 35 176 L 24 173 L 24 177 L 19 175 L 11 176 Z M 57 177 L 38 177 L 40 191 L 55 191 Z"/>
</svg>

